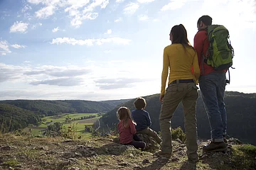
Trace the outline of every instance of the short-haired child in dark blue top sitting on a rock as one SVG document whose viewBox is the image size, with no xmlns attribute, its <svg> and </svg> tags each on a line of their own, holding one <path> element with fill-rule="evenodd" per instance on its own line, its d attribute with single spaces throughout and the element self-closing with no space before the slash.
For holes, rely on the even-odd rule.
<svg viewBox="0 0 256 170">
<path fill-rule="evenodd" d="M 157 143 L 160 144 L 162 142 L 161 137 L 159 137 L 159 135 L 157 135 L 154 130 L 149 128 L 151 125 L 151 119 L 149 113 L 144 111 L 144 108 L 146 107 L 146 100 L 142 97 L 139 97 L 136 99 L 136 101 L 134 101 L 134 106 L 136 110 L 132 111 L 132 119 L 137 123 L 137 133 L 149 135 L 153 137 Z"/>
</svg>

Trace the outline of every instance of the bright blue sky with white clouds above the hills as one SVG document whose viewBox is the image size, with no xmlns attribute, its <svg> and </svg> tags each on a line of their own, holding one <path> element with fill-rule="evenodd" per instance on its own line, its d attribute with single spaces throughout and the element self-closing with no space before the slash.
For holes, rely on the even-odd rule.
<svg viewBox="0 0 256 170">
<path fill-rule="evenodd" d="M 171 28 L 193 45 L 203 15 L 230 31 L 226 91 L 256 93 L 255 0 L 0 0 L 0 100 L 159 94 Z"/>
</svg>

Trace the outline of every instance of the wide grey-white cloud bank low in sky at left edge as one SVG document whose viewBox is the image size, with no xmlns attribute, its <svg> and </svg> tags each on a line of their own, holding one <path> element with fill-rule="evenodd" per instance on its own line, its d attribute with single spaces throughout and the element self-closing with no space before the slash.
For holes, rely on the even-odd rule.
<svg viewBox="0 0 256 170">
<path fill-rule="evenodd" d="M 25 61 L 24 63 L 30 63 Z M 0 83 L 4 81 L 26 81 L 31 85 L 48 84 L 55 86 L 77 86 L 81 84 L 85 74 L 90 74 L 90 69 L 77 66 L 56 67 L 43 65 L 31 67 L 31 65 L 15 66 L 0 62 Z"/>
</svg>

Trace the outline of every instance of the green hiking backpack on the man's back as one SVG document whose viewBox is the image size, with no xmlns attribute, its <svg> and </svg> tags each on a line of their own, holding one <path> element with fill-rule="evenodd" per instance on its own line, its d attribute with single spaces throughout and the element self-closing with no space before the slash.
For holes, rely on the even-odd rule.
<svg viewBox="0 0 256 170">
<path fill-rule="evenodd" d="M 229 69 L 233 65 L 234 50 L 229 41 L 228 29 L 220 25 L 207 28 L 210 45 L 206 52 L 205 62 L 215 70 Z"/>
</svg>

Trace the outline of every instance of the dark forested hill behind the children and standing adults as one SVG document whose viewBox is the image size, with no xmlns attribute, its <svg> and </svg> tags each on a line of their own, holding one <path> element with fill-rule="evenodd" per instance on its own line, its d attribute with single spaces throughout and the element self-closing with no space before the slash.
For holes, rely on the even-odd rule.
<svg viewBox="0 0 256 170">
<path fill-rule="evenodd" d="M 145 110 L 148 111 L 151 116 L 151 128 L 159 131 L 159 112 L 161 108 L 159 94 L 145 96 L 144 98 L 146 99 L 147 103 Z M 127 103 L 123 103 L 122 106 L 127 106 L 133 110 L 133 102 L 134 99 L 128 101 Z M 231 137 L 237 137 L 243 142 L 249 142 L 254 145 L 256 145 L 256 136 L 254 135 L 256 130 L 255 103 L 256 94 L 242 94 L 233 91 L 227 91 L 225 93 L 225 106 L 228 115 L 228 135 Z M 103 116 L 102 121 L 105 124 L 115 126 L 116 123 L 118 123 L 116 115 L 118 107 L 114 108 L 112 111 Z M 198 138 L 210 139 L 210 127 L 206 111 L 203 108 L 201 96 L 198 98 L 196 108 L 198 120 Z M 171 121 L 172 128 L 178 128 L 178 126 L 183 128 L 183 109 L 181 104 L 178 106 Z"/>
</svg>

